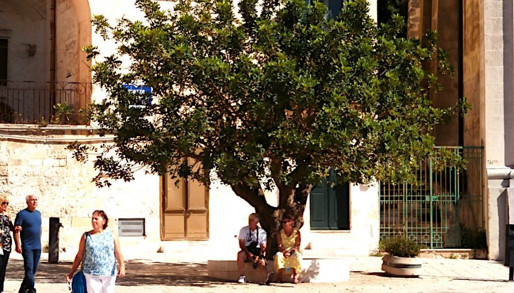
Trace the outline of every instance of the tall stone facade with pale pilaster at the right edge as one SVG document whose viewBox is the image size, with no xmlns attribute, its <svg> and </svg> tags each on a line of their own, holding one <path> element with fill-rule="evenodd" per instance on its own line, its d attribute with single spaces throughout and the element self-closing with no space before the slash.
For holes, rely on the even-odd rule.
<svg viewBox="0 0 514 293">
<path fill-rule="evenodd" d="M 484 147 L 482 168 L 489 258 L 503 260 L 505 226 L 514 224 L 514 26 L 512 1 L 409 0 L 409 36 L 439 33 L 439 46 L 455 68 L 436 105 L 465 97 L 472 109 L 437 129 L 440 145 Z M 468 170 L 469 173 L 470 170 Z"/>
</svg>

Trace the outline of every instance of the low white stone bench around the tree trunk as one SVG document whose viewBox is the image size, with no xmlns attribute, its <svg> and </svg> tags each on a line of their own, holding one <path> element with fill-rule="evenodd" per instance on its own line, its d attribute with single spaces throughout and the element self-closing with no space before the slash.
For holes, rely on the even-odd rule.
<svg viewBox="0 0 514 293">
<path fill-rule="evenodd" d="M 236 261 L 209 260 L 208 276 L 217 280 L 236 282 L 239 279 Z M 273 270 L 273 261 L 268 261 L 268 271 Z M 247 282 L 264 282 L 265 278 L 259 268 L 253 269 L 251 263 L 245 263 Z M 301 283 L 333 283 L 350 280 L 350 260 L 342 258 L 305 258 L 299 272 Z M 273 280 L 274 281 L 274 280 Z M 291 282 L 290 272 L 282 277 L 283 282 Z"/>
</svg>

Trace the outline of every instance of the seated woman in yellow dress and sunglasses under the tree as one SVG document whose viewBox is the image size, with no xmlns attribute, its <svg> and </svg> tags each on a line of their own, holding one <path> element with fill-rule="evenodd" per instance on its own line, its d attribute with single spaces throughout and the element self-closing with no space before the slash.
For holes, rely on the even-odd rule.
<svg viewBox="0 0 514 293">
<path fill-rule="evenodd" d="M 282 229 L 277 232 L 279 252 L 274 256 L 277 282 L 282 282 L 284 268 L 291 269 L 292 282 L 298 284 L 298 271 L 301 269 L 302 255 L 300 254 L 300 231 L 293 228 L 293 218 L 290 214 L 282 217 Z"/>
</svg>

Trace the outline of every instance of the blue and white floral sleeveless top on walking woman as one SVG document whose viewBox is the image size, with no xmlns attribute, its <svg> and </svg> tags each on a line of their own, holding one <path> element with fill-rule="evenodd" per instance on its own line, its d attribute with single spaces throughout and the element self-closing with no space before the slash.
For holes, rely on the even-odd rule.
<svg viewBox="0 0 514 293">
<path fill-rule="evenodd" d="M 89 235 L 85 232 L 86 245 L 84 252 L 84 274 L 93 276 L 115 276 L 116 262 L 114 258 L 113 232 L 105 230 L 103 233 Z"/>
</svg>

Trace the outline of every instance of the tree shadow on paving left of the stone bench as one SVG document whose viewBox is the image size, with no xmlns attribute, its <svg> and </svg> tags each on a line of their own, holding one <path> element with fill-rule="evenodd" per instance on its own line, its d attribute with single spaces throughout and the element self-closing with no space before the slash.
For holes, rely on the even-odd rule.
<svg viewBox="0 0 514 293">
<path fill-rule="evenodd" d="M 125 262 L 126 276 L 116 280 L 122 286 L 199 286 L 210 287 L 225 282 L 215 281 L 207 276 L 205 263 L 163 263 L 131 260 Z M 71 262 L 49 264 L 40 263 L 36 274 L 36 283 L 64 283 L 64 278 L 71 268 Z M 6 278 L 23 279 L 23 261 L 9 260 Z"/>
</svg>

